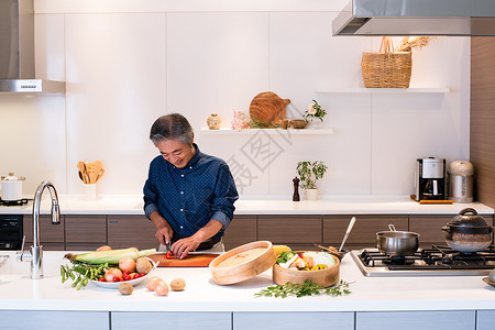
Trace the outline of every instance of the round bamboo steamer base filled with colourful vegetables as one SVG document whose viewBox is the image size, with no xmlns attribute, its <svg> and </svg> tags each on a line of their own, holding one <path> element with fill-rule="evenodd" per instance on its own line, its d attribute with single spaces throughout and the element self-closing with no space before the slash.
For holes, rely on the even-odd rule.
<svg viewBox="0 0 495 330">
<path fill-rule="evenodd" d="M 340 260 L 328 252 L 285 251 L 273 266 L 273 282 L 278 285 L 311 280 L 329 287 L 338 283 L 339 278 Z"/>
</svg>

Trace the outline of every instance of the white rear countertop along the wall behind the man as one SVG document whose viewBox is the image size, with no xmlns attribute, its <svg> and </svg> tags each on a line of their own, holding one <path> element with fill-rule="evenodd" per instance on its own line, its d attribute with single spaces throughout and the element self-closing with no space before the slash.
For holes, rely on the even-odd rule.
<svg viewBox="0 0 495 330">
<path fill-rule="evenodd" d="M 99 196 L 87 201 L 81 196 L 59 196 L 63 215 L 144 215 L 142 196 Z M 464 208 L 480 215 L 493 215 L 494 209 L 480 202 L 452 205 L 419 205 L 408 198 L 345 197 L 316 201 L 284 199 L 240 199 L 235 215 L 453 215 Z M 24 206 L 0 207 L 0 215 L 31 215 L 32 201 Z M 50 198 L 44 197 L 42 213 L 50 211 Z"/>
</svg>

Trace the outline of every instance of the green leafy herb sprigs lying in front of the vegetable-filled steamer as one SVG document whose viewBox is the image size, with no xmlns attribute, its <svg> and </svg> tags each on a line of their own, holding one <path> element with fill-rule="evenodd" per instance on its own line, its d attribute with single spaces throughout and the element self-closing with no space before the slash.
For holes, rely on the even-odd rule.
<svg viewBox="0 0 495 330">
<path fill-rule="evenodd" d="M 295 296 L 297 298 L 304 296 L 320 296 L 327 295 L 332 297 L 349 295 L 351 290 L 349 289 L 349 283 L 341 279 L 337 285 L 323 288 L 322 286 L 314 283 L 312 280 L 305 280 L 302 284 L 292 284 L 287 282 L 284 285 L 268 286 L 262 289 L 260 293 L 255 294 L 255 297 L 275 297 L 275 298 L 287 298 L 289 296 Z"/>
</svg>

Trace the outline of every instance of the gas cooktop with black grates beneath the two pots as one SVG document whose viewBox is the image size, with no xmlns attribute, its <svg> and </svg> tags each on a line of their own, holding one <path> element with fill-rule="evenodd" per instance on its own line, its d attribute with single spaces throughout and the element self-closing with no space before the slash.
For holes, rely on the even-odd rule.
<svg viewBox="0 0 495 330">
<path fill-rule="evenodd" d="M 461 253 L 447 246 L 420 249 L 414 255 L 397 257 L 377 249 L 351 251 L 360 271 L 371 277 L 400 276 L 471 276 L 488 275 L 495 268 L 495 248 L 475 253 Z"/>
</svg>

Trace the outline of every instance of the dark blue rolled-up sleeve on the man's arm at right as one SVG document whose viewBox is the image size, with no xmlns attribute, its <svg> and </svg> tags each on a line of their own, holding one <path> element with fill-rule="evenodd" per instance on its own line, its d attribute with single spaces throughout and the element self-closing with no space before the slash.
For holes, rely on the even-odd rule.
<svg viewBox="0 0 495 330">
<path fill-rule="evenodd" d="M 212 219 L 220 221 L 226 229 L 232 221 L 235 211 L 234 202 L 239 199 L 234 178 L 227 164 L 220 166 L 215 186 Z"/>
</svg>

